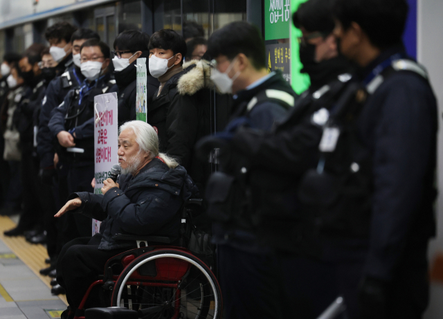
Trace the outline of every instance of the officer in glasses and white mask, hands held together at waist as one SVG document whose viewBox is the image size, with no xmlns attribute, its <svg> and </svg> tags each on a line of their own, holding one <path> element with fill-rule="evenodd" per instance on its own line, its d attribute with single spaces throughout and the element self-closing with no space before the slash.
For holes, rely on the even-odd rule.
<svg viewBox="0 0 443 319">
<path fill-rule="evenodd" d="M 110 80 L 109 46 L 97 39 L 89 39 L 80 48 L 80 69 L 86 80 L 80 88 L 69 91 L 54 110 L 49 129 L 57 138 L 56 150 L 60 161 L 68 168 L 68 192 L 93 192 L 94 175 L 94 97 L 116 91 Z M 76 233 L 71 237 L 91 235 L 91 220 L 75 215 Z M 76 236 L 75 236 L 76 235 Z"/>
</svg>

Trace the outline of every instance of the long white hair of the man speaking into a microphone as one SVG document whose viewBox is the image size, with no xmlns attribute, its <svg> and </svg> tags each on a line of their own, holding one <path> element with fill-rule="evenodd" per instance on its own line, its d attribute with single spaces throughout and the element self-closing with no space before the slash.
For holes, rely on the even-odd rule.
<svg viewBox="0 0 443 319">
<path fill-rule="evenodd" d="M 147 154 L 150 154 L 150 159 L 159 156 L 159 158 L 161 158 L 169 168 L 175 168 L 177 165 L 179 165 L 179 163 L 171 156 L 164 153 L 159 153 L 159 136 L 151 125 L 141 120 L 132 120 L 125 122 L 125 124 L 120 126 L 118 134 L 125 129 L 132 129 L 132 131 L 134 131 L 139 152 L 144 151 Z"/>
</svg>

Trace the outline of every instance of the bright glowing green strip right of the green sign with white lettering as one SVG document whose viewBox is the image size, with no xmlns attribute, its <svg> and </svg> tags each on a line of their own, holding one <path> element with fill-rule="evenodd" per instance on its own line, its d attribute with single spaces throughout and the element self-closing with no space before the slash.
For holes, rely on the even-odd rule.
<svg viewBox="0 0 443 319">
<path fill-rule="evenodd" d="M 281 1 L 281 0 L 280 0 Z M 296 12 L 298 6 L 307 0 L 291 0 L 291 17 L 293 12 Z M 266 1 L 265 1 L 266 2 Z M 309 75 L 305 73 L 300 73 L 303 68 L 303 64 L 300 62 L 299 47 L 298 47 L 298 37 L 301 37 L 302 32 L 293 26 L 291 21 L 291 85 L 297 94 L 306 91 L 311 85 L 311 80 L 309 80 Z M 266 30 L 266 29 L 265 29 Z"/>
</svg>

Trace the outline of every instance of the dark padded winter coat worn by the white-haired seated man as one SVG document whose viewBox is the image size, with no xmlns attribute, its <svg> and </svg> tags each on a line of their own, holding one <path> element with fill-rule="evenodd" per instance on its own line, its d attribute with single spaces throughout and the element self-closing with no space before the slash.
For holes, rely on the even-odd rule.
<svg viewBox="0 0 443 319">
<path fill-rule="evenodd" d="M 181 207 L 193 188 L 183 167 L 170 169 L 154 158 L 135 177 L 122 175 L 118 183 L 120 188 L 111 188 L 105 195 L 79 192 L 69 198 L 82 199 L 74 212 L 103 221 L 99 249 L 134 246 L 131 241 L 118 241 L 116 234 L 179 238 Z"/>
</svg>

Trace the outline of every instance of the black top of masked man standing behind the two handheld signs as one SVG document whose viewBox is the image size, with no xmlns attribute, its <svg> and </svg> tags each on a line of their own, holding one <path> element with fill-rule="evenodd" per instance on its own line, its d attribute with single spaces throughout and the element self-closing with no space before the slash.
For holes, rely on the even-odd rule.
<svg viewBox="0 0 443 319">
<path fill-rule="evenodd" d="M 140 57 L 148 58 L 149 53 L 143 52 Z M 146 60 L 148 61 L 148 60 Z M 136 119 L 136 95 L 137 95 L 137 60 L 119 72 L 114 71 L 114 78 L 118 86 L 118 126 L 124 122 Z M 148 69 L 148 68 L 147 68 Z M 147 100 L 159 89 L 160 82 L 151 75 L 147 76 L 146 97 Z"/>
</svg>

